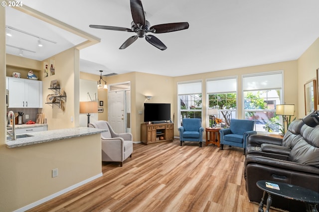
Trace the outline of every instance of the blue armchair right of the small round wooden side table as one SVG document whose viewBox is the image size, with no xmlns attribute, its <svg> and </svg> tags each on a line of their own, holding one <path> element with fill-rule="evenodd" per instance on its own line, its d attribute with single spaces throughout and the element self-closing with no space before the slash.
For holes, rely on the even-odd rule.
<svg viewBox="0 0 319 212">
<path fill-rule="evenodd" d="M 230 128 L 219 130 L 220 148 L 223 149 L 224 144 L 229 146 L 237 146 L 244 148 L 244 154 L 249 135 L 257 134 L 254 131 L 255 121 L 245 119 L 231 119 Z"/>
</svg>

